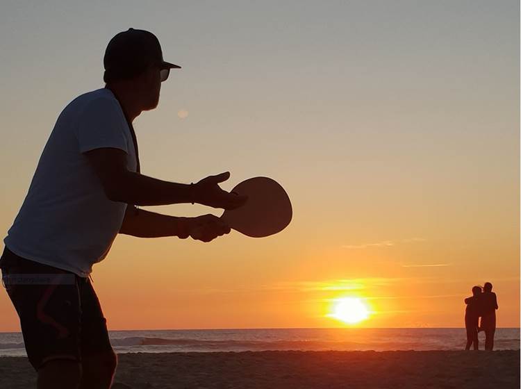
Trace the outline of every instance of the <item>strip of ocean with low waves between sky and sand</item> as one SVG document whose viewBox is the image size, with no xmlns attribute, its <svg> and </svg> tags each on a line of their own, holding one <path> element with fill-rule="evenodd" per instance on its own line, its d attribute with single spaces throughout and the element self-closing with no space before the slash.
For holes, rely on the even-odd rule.
<svg viewBox="0 0 521 389">
<path fill-rule="evenodd" d="M 264 350 L 461 350 L 465 329 L 170 329 L 109 331 L 117 353 Z M 485 335 L 479 333 L 480 347 Z M 520 349 L 520 329 L 497 329 L 494 349 Z M 0 356 L 26 356 L 22 333 L 0 333 Z"/>
</svg>

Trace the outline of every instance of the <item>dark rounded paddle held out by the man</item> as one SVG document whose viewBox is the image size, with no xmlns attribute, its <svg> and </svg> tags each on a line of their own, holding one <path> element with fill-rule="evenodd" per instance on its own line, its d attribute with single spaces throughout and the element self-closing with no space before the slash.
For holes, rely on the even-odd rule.
<svg viewBox="0 0 521 389">
<path fill-rule="evenodd" d="M 225 210 L 221 215 L 221 219 L 235 231 L 252 238 L 262 238 L 278 233 L 290 224 L 290 198 L 276 181 L 254 177 L 242 181 L 231 192 L 248 195 L 245 205 Z"/>
</svg>

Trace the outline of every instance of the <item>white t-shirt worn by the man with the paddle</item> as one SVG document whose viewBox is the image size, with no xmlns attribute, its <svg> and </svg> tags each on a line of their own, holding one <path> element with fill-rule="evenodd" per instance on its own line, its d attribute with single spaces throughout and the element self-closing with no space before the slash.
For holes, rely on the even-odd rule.
<svg viewBox="0 0 521 389">
<path fill-rule="evenodd" d="M 126 203 L 106 197 L 84 153 L 114 147 L 136 171 L 134 144 L 113 92 L 81 94 L 60 113 L 31 186 L 3 240 L 13 253 L 88 277 L 121 228 Z"/>
</svg>

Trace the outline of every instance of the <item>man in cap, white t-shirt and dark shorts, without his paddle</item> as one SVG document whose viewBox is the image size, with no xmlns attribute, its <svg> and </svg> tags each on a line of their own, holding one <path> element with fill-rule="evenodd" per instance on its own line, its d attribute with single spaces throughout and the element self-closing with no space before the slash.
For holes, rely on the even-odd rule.
<svg viewBox="0 0 521 389">
<path fill-rule="evenodd" d="M 172 217 L 137 206 L 197 202 L 233 209 L 247 200 L 219 187 L 229 172 L 196 184 L 140 174 L 132 122 L 158 106 L 161 83 L 179 68 L 163 60 L 154 34 L 118 33 L 104 67 L 105 87 L 81 94 L 60 113 L 0 258 L 39 389 L 112 385 L 117 356 L 89 277 L 117 233 L 210 242 L 230 232 L 214 215 Z"/>
</svg>

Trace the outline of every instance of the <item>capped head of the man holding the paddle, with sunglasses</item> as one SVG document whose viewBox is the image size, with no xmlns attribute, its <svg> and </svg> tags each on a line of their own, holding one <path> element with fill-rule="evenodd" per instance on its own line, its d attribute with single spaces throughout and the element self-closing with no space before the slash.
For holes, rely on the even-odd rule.
<svg viewBox="0 0 521 389">
<path fill-rule="evenodd" d="M 158 106 L 161 83 L 179 65 L 163 60 L 153 33 L 129 28 L 108 42 L 104 56 L 106 88 L 113 90 L 132 121 L 143 110 Z"/>
</svg>

